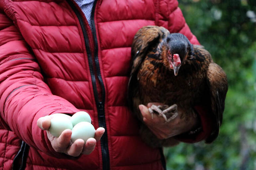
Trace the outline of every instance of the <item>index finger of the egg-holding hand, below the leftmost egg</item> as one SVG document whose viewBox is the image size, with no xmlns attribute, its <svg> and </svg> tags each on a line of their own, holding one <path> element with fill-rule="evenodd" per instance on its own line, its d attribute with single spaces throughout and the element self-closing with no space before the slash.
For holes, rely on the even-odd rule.
<svg viewBox="0 0 256 170">
<path fill-rule="evenodd" d="M 69 146 L 69 141 L 71 139 L 72 131 L 66 129 L 62 132 L 59 138 L 54 138 L 52 141 L 52 146 L 56 152 L 65 152 L 66 148 Z"/>
</svg>

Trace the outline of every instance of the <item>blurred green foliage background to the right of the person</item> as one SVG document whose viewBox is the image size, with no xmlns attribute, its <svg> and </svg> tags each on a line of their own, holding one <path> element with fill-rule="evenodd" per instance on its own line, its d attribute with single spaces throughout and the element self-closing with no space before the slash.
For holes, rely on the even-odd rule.
<svg viewBox="0 0 256 170">
<path fill-rule="evenodd" d="M 165 148 L 168 170 L 256 170 L 256 0 L 179 0 L 193 34 L 227 74 L 218 138 Z"/>
</svg>

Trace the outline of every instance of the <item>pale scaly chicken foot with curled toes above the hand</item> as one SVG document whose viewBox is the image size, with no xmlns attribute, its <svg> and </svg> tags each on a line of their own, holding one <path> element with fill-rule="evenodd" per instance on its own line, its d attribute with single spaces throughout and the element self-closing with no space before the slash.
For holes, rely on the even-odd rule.
<svg viewBox="0 0 256 170">
<path fill-rule="evenodd" d="M 175 119 L 178 116 L 177 104 L 174 104 L 168 108 L 167 107 L 168 107 L 168 105 L 156 106 L 153 104 L 150 108 L 148 108 L 149 112 L 151 113 L 152 119 L 153 119 L 154 111 L 157 112 L 159 114 L 159 116 L 162 116 L 165 119 L 165 122 L 169 122 L 169 121 Z M 172 116 L 167 119 L 166 115 L 170 115 L 170 113 L 172 114 Z"/>
</svg>

